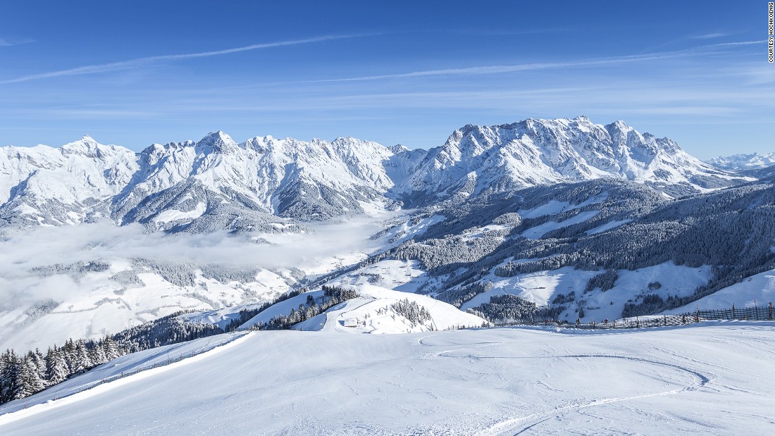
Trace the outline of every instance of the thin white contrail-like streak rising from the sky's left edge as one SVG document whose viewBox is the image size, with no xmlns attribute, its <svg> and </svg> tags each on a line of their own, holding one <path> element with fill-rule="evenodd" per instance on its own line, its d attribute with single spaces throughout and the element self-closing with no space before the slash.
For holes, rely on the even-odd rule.
<svg viewBox="0 0 775 436">
<path fill-rule="evenodd" d="M 106 73 L 110 71 L 132 70 L 134 68 L 146 66 L 148 64 L 154 64 L 157 62 L 164 62 L 169 60 L 186 60 L 186 59 L 195 59 L 198 57 L 220 56 L 224 54 L 241 53 L 241 52 L 251 51 L 251 50 L 262 50 L 262 49 L 282 47 L 282 46 L 298 46 L 301 44 L 320 43 L 323 41 L 332 41 L 335 39 L 355 38 L 357 36 L 367 36 L 367 35 L 356 34 L 356 35 L 315 36 L 312 38 L 291 39 L 287 41 L 277 41 L 274 43 L 253 44 L 250 46 L 241 46 L 241 47 L 235 47 L 231 49 L 206 51 L 206 52 L 200 52 L 200 53 L 167 54 L 167 55 L 161 55 L 161 56 L 138 57 L 136 59 L 122 60 L 119 62 L 111 62 L 108 64 L 85 65 L 84 67 L 68 68 L 67 70 L 56 70 L 56 71 L 49 71 L 47 73 L 29 74 L 27 76 L 16 77 L 15 79 L 0 81 L 0 84 L 12 84 L 12 83 L 18 83 L 18 82 L 36 81 L 36 80 L 48 79 L 52 77 L 77 76 L 81 74 L 98 74 L 98 73 Z"/>
</svg>

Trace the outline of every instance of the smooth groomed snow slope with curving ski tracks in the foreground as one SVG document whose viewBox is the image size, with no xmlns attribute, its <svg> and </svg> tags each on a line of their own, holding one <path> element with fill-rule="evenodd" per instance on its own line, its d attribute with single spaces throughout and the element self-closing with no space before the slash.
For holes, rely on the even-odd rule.
<svg viewBox="0 0 775 436">
<path fill-rule="evenodd" d="M 773 342 L 775 323 L 742 321 L 258 331 L 122 383 L 30 397 L 0 434 L 771 434 Z"/>
</svg>

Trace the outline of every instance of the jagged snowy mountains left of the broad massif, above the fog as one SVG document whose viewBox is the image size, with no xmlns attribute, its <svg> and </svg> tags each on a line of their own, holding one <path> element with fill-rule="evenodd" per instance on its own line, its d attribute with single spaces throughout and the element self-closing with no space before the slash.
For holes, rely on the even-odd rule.
<svg viewBox="0 0 775 436">
<path fill-rule="evenodd" d="M 212 232 L 285 228 L 384 205 L 394 153 L 343 138 L 237 144 L 223 132 L 198 142 L 153 144 L 141 153 L 88 136 L 59 149 L 0 153 L 6 225 L 63 225 L 110 218 L 150 230 Z"/>
</svg>

